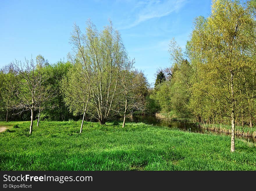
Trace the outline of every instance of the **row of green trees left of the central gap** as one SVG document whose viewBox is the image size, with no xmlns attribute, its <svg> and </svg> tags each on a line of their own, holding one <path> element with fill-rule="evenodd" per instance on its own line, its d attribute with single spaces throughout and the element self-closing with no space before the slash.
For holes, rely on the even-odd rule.
<svg viewBox="0 0 256 191">
<path fill-rule="evenodd" d="M 0 72 L 0 120 L 96 120 L 150 113 L 149 84 L 134 68 L 122 39 L 110 22 L 98 31 L 74 26 L 69 61 L 49 64 L 41 55 L 15 60 Z M 38 125 L 37 124 L 37 125 Z"/>
</svg>

